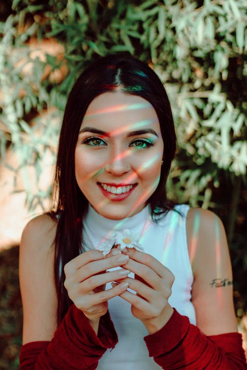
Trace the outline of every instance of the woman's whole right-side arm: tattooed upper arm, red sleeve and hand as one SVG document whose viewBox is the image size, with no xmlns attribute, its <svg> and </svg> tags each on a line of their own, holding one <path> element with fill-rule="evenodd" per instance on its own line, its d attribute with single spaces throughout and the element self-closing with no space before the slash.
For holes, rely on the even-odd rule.
<svg viewBox="0 0 247 370">
<path fill-rule="evenodd" d="M 223 226 L 209 211 L 190 210 L 187 234 L 195 278 L 192 301 L 197 327 L 166 304 L 170 274 L 149 255 L 128 251 L 130 260 L 126 268 L 141 279 L 126 279 L 138 296 L 130 292 L 121 296 L 132 304 L 134 315 L 142 313 L 139 318 L 150 333 L 145 337 L 149 354 L 164 369 L 244 370 L 246 359 L 241 334 L 237 333 L 232 270 Z M 159 306 L 161 302 L 163 310 Z M 159 315 L 148 316 L 158 306 Z"/>
</svg>

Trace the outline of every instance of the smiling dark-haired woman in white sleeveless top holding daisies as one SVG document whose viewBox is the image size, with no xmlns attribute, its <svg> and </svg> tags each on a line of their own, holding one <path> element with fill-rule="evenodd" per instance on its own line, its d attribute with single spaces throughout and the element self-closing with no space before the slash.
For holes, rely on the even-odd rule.
<svg viewBox="0 0 247 370">
<path fill-rule="evenodd" d="M 81 74 L 56 210 L 22 236 L 20 369 L 246 369 L 223 226 L 167 201 L 174 152 L 170 105 L 147 65 L 112 54 Z"/>
</svg>

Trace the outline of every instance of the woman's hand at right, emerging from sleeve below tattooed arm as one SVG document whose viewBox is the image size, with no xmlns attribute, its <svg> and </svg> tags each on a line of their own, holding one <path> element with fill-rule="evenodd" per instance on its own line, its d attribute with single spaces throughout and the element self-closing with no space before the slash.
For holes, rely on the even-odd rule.
<svg viewBox="0 0 247 370">
<path fill-rule="evenodd" d="M 174 275 L 161 262 L 146 253 L 131 248 L 127 249 L 126 254 L 129 260 L 124 267 L 132 271 L 135 278 L 127 277 L 124 281 L 136 295 L 126 290 L 120 296 L 131 303 L 132 314 L 143 322 L 149 333 L 155 333 L 173 313 L 168 298 Z"/>
</svg>

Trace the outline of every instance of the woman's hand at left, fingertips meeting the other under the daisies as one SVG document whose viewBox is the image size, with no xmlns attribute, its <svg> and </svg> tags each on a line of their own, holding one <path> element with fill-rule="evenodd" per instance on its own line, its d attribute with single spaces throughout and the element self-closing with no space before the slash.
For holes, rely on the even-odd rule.
<svg viewBox="0 0 247 370">
<path fill-rule="evenodd" d="M 122 260 L 119 260 L 121 258 Z M 122 255 L 121 251 L 113 252 L 106 258 L 102 252 L 90 250 L 64 266 L 66 276 L 64 286 L 68 295 L 89 320 L 103 316 L 108 310 L 107 300 L 126 290 L 127 282 L 109 290 L 105 290 L 105 284 L 119 281 L 128 275 L 130 271 L 126 269 L 106 272 L 109 268 L 124 265 L 128 259 L 128 256 Z"/>
</svg>

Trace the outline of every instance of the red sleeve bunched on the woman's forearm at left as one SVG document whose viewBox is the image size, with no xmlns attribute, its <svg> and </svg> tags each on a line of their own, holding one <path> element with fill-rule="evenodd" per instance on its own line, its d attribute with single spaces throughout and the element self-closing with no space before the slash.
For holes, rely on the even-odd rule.
<svg viewBox="0 0 247 370">
<path fill-rule="evenodd" d="M 22 346 L 19 370 L 94 370 L 117 341 L 108 312 L 100 318 L 97 336 L 83 312 L 72 304 L 50 342 Z"/>
</svg>

